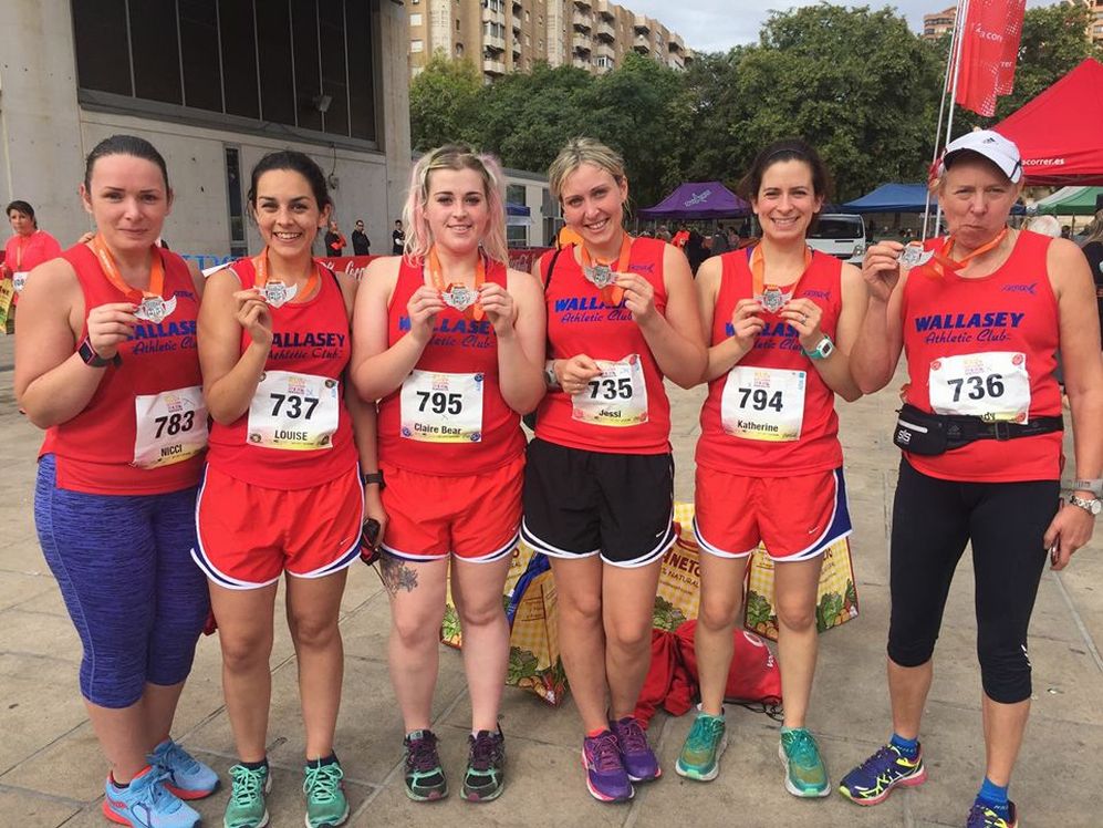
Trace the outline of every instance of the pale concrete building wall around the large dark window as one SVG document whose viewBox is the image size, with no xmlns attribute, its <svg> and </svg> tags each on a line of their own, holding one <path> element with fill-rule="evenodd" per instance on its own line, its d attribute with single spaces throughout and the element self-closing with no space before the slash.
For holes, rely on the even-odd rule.
<svg viewBox="0 0 1103 828">
<path fill-rule="evenodd" d="M 164 237 L 174 250 L 214 257 L 230 252 L 226 146 L 240 151 L 242 199 L 253 164 L 272 149 L 301 149 L 337 177 L 332 193 L 345 236 L 363 218 L 373 251 L 389 251 L 391 227 L 400 215 L 410 167 L 408 35 L 403 7 L 374 4 L 377 144 L 375 151 L 256 135 L 83 108 L 77 103 L 72 15 L 64 0 L 0 2 L 0 196 L 30 201 L 40 226 L 63 247 L 91 228 L 76 189 L 84 156 L 115 133 L 139 135 L 168 163 L 176 200 Z M 9 33 L 18 32 L 18 35 Z M 250 252 L 260 238 L 247 222 Z M 6 236 L 6 234 L 4 234 Z M 384 246 L 384 241 L 386 245 Z M 320 242 L 319 242 L 320 244 Z M 319 252 L 321 247 L 319 246 Z M 352 252 L 352 244 L 347 252 Z"/>
</svg>

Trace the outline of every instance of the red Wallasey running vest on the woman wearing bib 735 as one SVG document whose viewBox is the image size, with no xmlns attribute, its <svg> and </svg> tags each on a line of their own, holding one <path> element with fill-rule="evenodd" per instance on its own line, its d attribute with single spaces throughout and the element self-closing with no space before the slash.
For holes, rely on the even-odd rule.
<svg viewBox="0 0 1103 828">
<path fill-rule="evenodd" d="M 663 281 L 662 239 L 632 240 L 628 270 L 644 277 L 655 290 L 655 309 L 666 310 Z M 548 306 L 549 359 L 569 360 L 584 353 L 594 360 L 620 361 L 637 355 L 647 390 L 647 420 L 635 425 L 613 427 L 574 418 L 570 394 L 550 391 L 540 403 L 537 436 L 540 439 L 587 452 L 608 454 L 666 454 L 670 451 L 670 402 L 663 386 L 663 372 L 655 362 L 644 334 L 624 302 L 606 306 L 597 288 L 586 280 L 574 260 L 574 249 L 564 248 L 555 261 L 555 272 L 547 273 L 554 251 L 540 258 L 545 273 L 544 301 Z M 587 393 L 586 391 L 582 392 Z"/>
</svg>

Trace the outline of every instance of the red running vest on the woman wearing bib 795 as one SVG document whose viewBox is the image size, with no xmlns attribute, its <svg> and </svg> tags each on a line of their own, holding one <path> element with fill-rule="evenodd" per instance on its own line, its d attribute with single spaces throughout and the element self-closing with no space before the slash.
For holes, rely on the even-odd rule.
<svg viewBox="0 0 1103 828">
<path fill-rule="evenodd" d="M 487 262 L 487 282 L 506 288 L 506 266 Z M 425 284 L 420 262 L 405 258 L 398 268 L 398 280 L 387 308 L 387 346 L 394 345 L 409 331 L 410 297 Z M 414 366 L 428 374 L 475 374 L 482 387 L 482 425 L 477 442 L 433 442 L 404 434 L 403 389 L 379 401 L 379 460 L 417 474 L 458 477 L 476 475 L 504 466 L 524 452 L 521 418 L 502 399 L 498 384 L 498 338 L 490 320 L 466 319 L 455 308 L 437 313 L 433 338 Z M 444 376 L 437 386 L 444 386 Z M 428 390 L 434 386 L 428 379 Z M 446 395 L 447 396 L 447 395 Z M 412 405 L 428 402 L 423 413 L 431 414 L 431 403 L 416 394 L 407 396 Z M 405 412 L 409 420 L 413 412 Z"/>
</svg>

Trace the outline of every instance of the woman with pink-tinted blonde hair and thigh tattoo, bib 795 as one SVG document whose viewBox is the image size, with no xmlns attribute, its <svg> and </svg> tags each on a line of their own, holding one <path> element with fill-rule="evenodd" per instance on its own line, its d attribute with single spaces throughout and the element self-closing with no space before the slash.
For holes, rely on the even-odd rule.
<svg viewBox="0 0 1103 828">
<path fill-rule="evenodd" d="M 502 589 L 521 522 L 520 415 L 544 391 L 544 320 L 532 277 L 507 266 L 504 184 L 492 157 L 460 145 L 423 155 L 404 219 L 406 255 L 365 271 L 352 369 L 361 395 L 379 400 L 391 518 L 379 567 L 404 782 L 415 801 L 448 793 L 429 725 L 450 577 L 471 694 L 462 796 L 486 801 L 506 783 Z"/>
</svg>

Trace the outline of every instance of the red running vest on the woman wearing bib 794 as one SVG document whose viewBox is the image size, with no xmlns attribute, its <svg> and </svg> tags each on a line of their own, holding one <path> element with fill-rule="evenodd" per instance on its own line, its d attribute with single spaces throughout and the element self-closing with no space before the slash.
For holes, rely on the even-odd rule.
<svg viewBox="0 0 1103 828">
<path fill-rule="evenodd" d="M 740 299 L 753 296 L 753 277 L 749 261 L 752 248 L 733 250 L 720 257 L 720 288 L 712 313 L 709 346 L 732 335 L 731 314 Z M 821 330 L 835 339 L 842 311 L 842 262 L 832 256 L 812 252 L 812 262 L 797 283 L 793 298 L 815 302 L 823 311 Z M 794 441 L 752 439 L 726 432 L 720 406 L 729 374 L 708 384 L 708 397 L 701 406 L 701 435 L 697 441 L 697 463 L 728 474 L 749 477 L 787 477 L 839 468 L 843 449 L 839 443 L 839 416 L 835 393 L 821 379 L 815 365 L 801 351 L 797 330 L 776 313 L 764 312 L 766 327 L 755 348 L 736 368 L 767 368 L 803 371 L 804 416 L 800 437 Z"/>
</svg>

